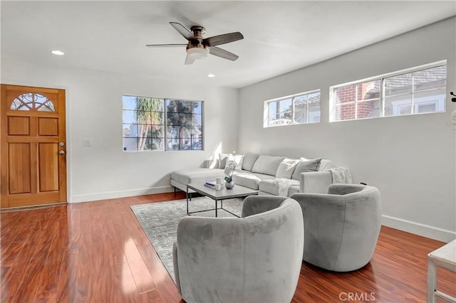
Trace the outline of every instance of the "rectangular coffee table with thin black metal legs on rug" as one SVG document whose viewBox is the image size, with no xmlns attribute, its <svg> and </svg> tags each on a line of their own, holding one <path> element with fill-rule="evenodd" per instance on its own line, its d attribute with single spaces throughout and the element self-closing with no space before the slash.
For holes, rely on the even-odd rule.
<svg viewBox="0 0 456 303">
<path fill-rule="evenodd" d="M 231 198 L 244 198 L 247 196 L 258 195 L 258 191 L 247 188 L 244 186 L 236 185 L 232 189 L 227 189 L 224 186 L 219 191 L 216 191 L 215 188 L 209 188 L 202 184 L 187 184 L 187 215 L 190 216 L 190 213 L 201 213 L 202 211 L 188 211 L 188 201 L 189 201 L 189 192 L 188 190 L 192 189 L 202 196 L 212 198 L 215 201 L 215 208 L 204 209 L 202 211 L 215 211 L 215 216 L 217 217 L 217 210 L 222 209 L 227 213 L 231 213 L 233 216 L 237 216 L 231 211 L 227 211 L 223 208 L 223 201 Z M 220 208 L 217 207 L 217 201 L 220 201 Z M 237 216 L 239 218 L 239 216 Z"/>
</svg>

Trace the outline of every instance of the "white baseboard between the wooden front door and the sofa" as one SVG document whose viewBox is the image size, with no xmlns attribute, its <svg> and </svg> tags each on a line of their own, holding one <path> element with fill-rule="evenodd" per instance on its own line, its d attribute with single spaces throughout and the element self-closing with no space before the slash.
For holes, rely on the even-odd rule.
<svg viewBox="0 0 456 303">
<path fill-rule="evenodd" d="M 131 196 L 151 195 L 152 193 L 170 193 L 174 191 L 173 186 L 159 186 L 152 188 L 137 188 L 128 191 L 108 191 L 105 193 L 89 193 L 86 195 L 75 195 L 70 197 L 68 203 L 80 203 L 113 198 L 124 198 Z"/>
</svg>

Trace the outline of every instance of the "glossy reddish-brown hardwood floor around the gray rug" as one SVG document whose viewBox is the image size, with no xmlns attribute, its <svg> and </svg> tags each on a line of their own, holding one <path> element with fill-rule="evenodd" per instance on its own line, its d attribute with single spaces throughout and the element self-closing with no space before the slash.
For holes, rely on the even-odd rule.
<svg viewBox="0 0 456 303">
<path fill-rule="evenodd" d="M 2 211 L 1 302 L 181 302 L 130 210 L 174 198 L 184 194 Z M 293 302 L 425 302 L 427 253 L 443 244 L 383 227 L 361 270 L 334 273 L 303 262 Z M 437 287 L 456 297 L 456 274 L 439 270 L 437 277 Z"/>
</svg>

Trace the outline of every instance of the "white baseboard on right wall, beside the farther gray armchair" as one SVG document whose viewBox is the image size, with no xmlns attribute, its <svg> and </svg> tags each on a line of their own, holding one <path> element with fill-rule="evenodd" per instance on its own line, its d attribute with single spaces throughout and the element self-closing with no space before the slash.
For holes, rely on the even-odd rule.
<svg viewBox="0 0 456 303">
<path fill-rule="evenodd" d="M 443 241 L 445 243 L 455 240 L 456 238 L 456 233 L 454 231 L 436 228 L 434 226 L 416 223 L 409 220 L 403 220 L 391 216 L 383 215 L 382 225 L 398 230 L 403 230 L 408 233 L 414 233 L 415 235 L 423 235 L 423 237 Z"/>
</svg>

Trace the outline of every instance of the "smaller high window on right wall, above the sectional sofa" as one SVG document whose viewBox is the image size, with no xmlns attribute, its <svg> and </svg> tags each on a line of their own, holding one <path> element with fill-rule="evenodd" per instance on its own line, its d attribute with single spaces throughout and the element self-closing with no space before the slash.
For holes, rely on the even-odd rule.
<svg viewBox="0 0 456 303">
<path fill-rule="evenodd" d="M 320 122 L 320 90 L 264 102 L 264 127 Z"/>
</svg>

